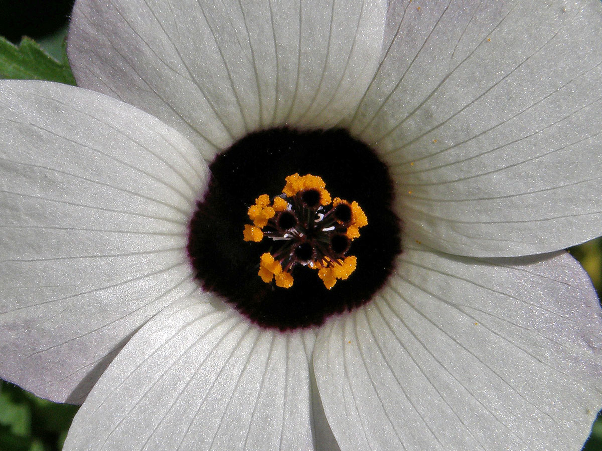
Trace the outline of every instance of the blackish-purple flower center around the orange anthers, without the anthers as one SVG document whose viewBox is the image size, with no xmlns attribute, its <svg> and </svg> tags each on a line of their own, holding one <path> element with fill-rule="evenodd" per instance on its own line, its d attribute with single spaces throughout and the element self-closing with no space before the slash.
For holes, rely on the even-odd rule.
<svg viewBox="0 0 602 451">
<path fill-rule="evenodd" d="M 211 179 L 190 222 L 188 254 L 203 289 L 213 291 L 250 321 L 282 331 L 323 324 L 333 314 L 350 311 L 370 301 L 383 286 L 401 252 L 400 221 L 393 213 L 393 183 L 376 153 L 346 130 L 300 132 L 282 128 L 250 133 L 216 157 Z M 290 174 L 321 177 L 333 195 L 357 201 L 368 217 L 361 236 L 351 241 L 330 233 L 328 241 L 308 236 L 294 242 L 298 262 L 310 262 L 321 249 L 335 256 L 347 252 L 357 258 L 355 271 L 332 289 L 300 266 L 288 289 L 267 284 L 258 276 L 260 257 L 276 252 L 276 241 L 243 240 L 249 223 L 247 210 L 262 194 L 281 194 Z M 320 208 L 320 192 L 306 189 L 297 195 L 307 209 Z M 352 209 L 340 203 L 333 220 L 346 225 Z M 296 230 L 303 224 L 296 212 L 273 217 L 274 233 Z"/>
</svg>

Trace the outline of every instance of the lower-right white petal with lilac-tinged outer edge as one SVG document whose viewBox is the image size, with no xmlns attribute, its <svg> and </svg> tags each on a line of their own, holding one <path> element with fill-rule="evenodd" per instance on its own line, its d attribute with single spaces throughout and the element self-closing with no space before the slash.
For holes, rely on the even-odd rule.
<svg viewBox="0 0 602 451">
<path fill-rule="evenodd" d="M 318 335 L 341 449 L 580 449 L 602 400 L 602 321 L 579 264 L 411 244 L 398 263 L 373 303 Z"/>
</svg>

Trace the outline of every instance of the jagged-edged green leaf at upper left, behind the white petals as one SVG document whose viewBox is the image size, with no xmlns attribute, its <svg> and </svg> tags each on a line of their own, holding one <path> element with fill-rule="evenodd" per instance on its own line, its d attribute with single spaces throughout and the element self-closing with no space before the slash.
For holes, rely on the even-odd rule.
<svg viewBox="0 0 602 451">
<path fill-rule="evenodd" d="M 75 85 L 75 78 L 63 51 L 63 61 L 46 54 L 31 38 L 15 46 L 0 36 L 0 78 L 36 79 Z"/>
</svg>

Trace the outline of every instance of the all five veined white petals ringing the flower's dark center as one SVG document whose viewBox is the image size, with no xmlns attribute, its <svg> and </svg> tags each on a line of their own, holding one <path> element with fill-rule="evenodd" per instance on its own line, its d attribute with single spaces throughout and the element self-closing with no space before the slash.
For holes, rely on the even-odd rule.
<svg viewBox="0 0 602 451">
<path fill-rule="evenodd" d="M 0 376 L 85 399 L 66 450 L 579 449 L 600 305 L 554 251 L 602 233 L 602 5 L 386 3 L 78 0 L 120 100 L 0 83 Z M 373 146 L 404 225 L 370 303 L 288 333 L 185 254 L 201 154 L 283 124 Z"/>
</svg>

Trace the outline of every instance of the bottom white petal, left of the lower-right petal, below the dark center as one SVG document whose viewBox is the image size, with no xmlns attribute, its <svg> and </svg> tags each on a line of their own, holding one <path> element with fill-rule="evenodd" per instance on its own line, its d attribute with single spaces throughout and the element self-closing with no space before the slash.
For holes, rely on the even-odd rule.
<svg viewBox="0 0 602 451">
<path fill-rule="evenodd" d="M 132 337 L 64 450 L 312 449 L 307 339 L 261 330 L 196 293 Z"/>
</svg>

